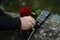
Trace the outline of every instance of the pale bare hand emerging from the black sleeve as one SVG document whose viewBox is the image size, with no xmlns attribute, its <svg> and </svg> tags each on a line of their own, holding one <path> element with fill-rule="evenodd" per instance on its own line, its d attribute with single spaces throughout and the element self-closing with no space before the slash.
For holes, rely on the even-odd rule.
<svg viewBox="0 0 60 40">
<path fill-rule="evenodd" d="M 31 16 L 21 17 L 21 30 L 29 30 L 34 27 L 35 20 Z"/>
</svg>

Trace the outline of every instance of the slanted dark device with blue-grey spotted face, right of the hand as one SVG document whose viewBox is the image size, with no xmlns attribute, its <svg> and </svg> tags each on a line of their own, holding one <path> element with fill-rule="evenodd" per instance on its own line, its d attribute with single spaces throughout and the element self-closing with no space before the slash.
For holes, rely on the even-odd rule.
<svg viewBox="0 0 60 40">
<path fill-rule="evenodd" d="M 36 25 L 34 28 L 38 29 L 49 17 L 49 15 L 50 15 L 49 11 L 42 11 L 41 14 L 38 16 L 38 18 L 36 19 Z"/>
</svg>

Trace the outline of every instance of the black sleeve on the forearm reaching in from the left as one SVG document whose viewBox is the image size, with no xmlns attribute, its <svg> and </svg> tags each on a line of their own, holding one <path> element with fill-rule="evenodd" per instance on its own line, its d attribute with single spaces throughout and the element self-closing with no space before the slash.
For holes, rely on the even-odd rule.
<svg viewBox="0 0 60 40">
<path fill-rule="evenodd" d="M 15 30 L 20 29 L 21 21 L 17 17 L 0 16 L 0 30 Z"/>
</svg>

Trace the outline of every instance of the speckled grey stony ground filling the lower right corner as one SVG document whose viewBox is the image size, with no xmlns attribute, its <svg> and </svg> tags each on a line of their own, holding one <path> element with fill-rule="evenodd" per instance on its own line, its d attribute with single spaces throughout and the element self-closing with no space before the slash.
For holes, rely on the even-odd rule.
<svg viewBox="0 0 60 40">
<path fill-rule="evenodd" d="M 30 40 L 60 40 L 60 23 L 48 20 L 37 30 Z M 35 37 L 37 36 L 37 38 Z"/>
</svg>

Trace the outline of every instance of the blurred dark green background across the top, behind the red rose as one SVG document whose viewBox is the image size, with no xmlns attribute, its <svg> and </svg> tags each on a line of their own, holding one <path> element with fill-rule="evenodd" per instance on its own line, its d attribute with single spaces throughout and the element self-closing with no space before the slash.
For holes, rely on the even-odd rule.
<svg viewBox="0 0 60 40">
<path fill-rule="evenodd" d="M 19 9 L 29 5 L 32 11 L 49 10 L 60 13 L 60 0 L 3 0 L 3 9 L 8 12 L 19 12 Z"/>
</svg>

